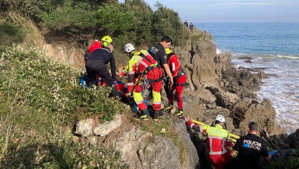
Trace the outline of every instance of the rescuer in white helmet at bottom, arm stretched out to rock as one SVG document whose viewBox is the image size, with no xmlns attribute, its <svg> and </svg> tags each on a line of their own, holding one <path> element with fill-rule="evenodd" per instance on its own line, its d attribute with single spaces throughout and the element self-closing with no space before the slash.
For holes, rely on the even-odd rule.
<svg viewBox="0 0 299 169">
<path fill-rule="evenodd" d="M 228 141 L 230 132 L 223 128 L 224 117 L 218 114 L 214 120 L 215 125 L 212 126 L 199 126 L 190 121 L 187 116 L 183 116 L 183 118 L 190 128 L 207 134 L 207 149 L 211 164 L 215 169 L 222 169 L 230 160 L 230 151 L 233 149 L 233 142 Z"/>
</svg>

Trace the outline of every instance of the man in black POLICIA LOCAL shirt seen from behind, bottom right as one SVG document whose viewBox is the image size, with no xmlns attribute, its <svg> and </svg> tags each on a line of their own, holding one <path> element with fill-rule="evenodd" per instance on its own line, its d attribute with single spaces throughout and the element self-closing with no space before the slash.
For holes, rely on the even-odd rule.
<svg viewBox="0 0 299 169">
<path fill-rule="evenodd" d="M 265 161 L 271 160 L 271 155 L 268 154 L 265 142 L 256 134 L 259 131 L 258 124 L 254 121 L 249 123 L 248 134 L 239 138 L 230 153 L 230 157 L 234 158 L 236 153 L 236 168 L 259 168 L 259 159 L 262 156 Z"/>
</svg>

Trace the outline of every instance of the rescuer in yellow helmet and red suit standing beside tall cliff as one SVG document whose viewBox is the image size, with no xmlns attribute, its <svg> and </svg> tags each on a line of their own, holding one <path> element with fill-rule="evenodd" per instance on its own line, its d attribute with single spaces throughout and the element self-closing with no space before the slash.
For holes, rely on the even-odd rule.
<svg viewBox="0 0 299 169">
<path fill-rule="evenodd" d="M 173 78 L 173 85 L 166 90 L 169 106 L 166 107 L 165 110 L 169 110 L 173 107 L 173 98 L 175 98 L 179 109 L 176 115 L 180 116 L 183 114 L 183 100 L 181 95 L 186 84 L 186 74 L 178 61 L 178 56 L 169 48 L 165 49 L 165 53 L 167 54 L 167 64 Z M 175 95 L 173 95 L 173 91 L 175 91 Z"/>
</svg>

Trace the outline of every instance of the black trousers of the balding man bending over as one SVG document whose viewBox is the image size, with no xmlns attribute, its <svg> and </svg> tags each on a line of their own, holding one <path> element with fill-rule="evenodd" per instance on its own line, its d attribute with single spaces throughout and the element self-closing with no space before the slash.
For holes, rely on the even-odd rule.
<svg viewBox="0 0 299 169">
<path fill-rule="evenodd" d="M 112 88 L 110 96 L 118 96 L 118 92 L 112 76 L 110 75 L 107 66 L 102 60 L 87 60 L 85 68 L 88 76 L 88 87 L 98 85 L 98 80 L 96 74 L 98 74 L 103 81 L 107 83 L 107 86 Z"/>
</svg>

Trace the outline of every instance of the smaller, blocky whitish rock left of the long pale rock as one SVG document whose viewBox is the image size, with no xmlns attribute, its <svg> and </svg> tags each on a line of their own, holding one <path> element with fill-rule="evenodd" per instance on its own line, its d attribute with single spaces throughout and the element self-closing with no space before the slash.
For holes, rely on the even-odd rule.
<svg viewBox="0 0 299 169">
<path fill-rule="evenodd" d="M 87 137 L 92 134 L 93 120 L 91 118 L 81 120 L 76 125 L 76 134 Z"/>
</svg>

